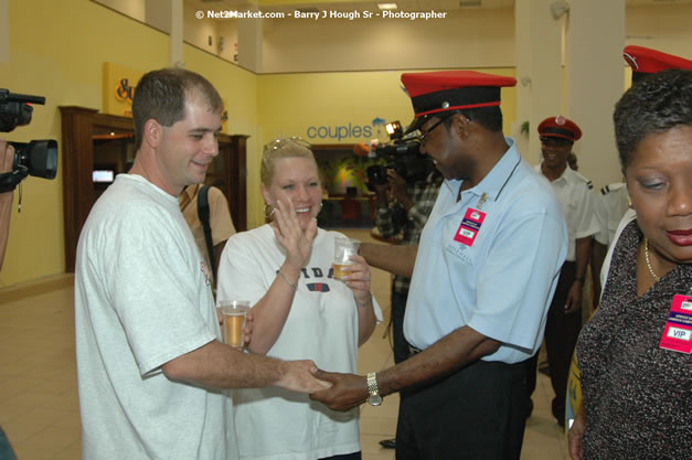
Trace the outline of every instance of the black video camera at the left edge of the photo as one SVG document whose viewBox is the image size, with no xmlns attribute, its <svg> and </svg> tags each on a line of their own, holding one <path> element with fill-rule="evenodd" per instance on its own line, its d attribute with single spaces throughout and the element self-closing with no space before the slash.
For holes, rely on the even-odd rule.
<svg viewBox="0 0 692 460">
<path fill-rule="evenodd" d="M 45 104 L 45 97 L 12 94 L 0 89 L 0 132 L 11 132 L 18 126 L 29 125 L 33 107 L 30 104 Z M 57 142 L 32 140 L 8 142 L 14 147 L 12 171 L 0 173 L 0 193 L 11 192 L 28 175 L 55 179 L 57 172 Z"/>
</svg>

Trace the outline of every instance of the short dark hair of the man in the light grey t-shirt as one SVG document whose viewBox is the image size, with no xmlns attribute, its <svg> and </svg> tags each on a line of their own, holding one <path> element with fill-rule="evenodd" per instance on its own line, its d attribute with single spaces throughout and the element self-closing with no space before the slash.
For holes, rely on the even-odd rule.
<svg viewBox="0 0 692 460">
<path fill-rule="evenodd" d="M 170 67 L 145 74 L 135 88 L 132 99 L 136 149 L 141 146 L 147 120 L 173 126 L 185 118 L 185 100 L 191 97 L 202 97 L 213 113 L 223 110 L 216 88 L 195 72 Z"/>
</svg>

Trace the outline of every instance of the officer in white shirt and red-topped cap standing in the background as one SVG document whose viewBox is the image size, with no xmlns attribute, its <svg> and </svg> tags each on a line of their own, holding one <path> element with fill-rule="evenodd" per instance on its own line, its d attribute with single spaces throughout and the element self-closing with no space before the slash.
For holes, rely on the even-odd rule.
<svg viewBox="0 0 692 460">
<path fill-rule="evenodd" d="M 565 422 L 565 397 L 572 353 L 582 328 L 582 291 L 588 267 L 592 235 L 598 232 L 594 216 L 592 183 L 567 165 L 572 146 L 582 130 L 572 120 L 549 117 L 539 125 L 543 160 L 535 167 L 553 186 L 567 222 L 567 258 L 545 324 L 545 350 L 555 397 L 553 415 L 561 426 Z M 529 365 L 530 378 L 535 375 Z"/>
</svg>

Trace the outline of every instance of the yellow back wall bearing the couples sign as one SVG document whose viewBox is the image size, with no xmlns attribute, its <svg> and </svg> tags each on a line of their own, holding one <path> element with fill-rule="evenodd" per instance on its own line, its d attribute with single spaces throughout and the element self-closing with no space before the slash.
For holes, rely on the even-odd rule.
<svg viewBox="0 0 692 460">
<path fill-rule="evenodd" d="M 514 76 L 513 68 L 482 71 Z M 377 136 L 376 127 L 372 127 L 374 118 L 400 120 L 403 126 L 413 119 L 411 99 L 401 88 L 402 73 L 347 72 L 259 76 L 257 105 L 260 127 L 256 158 L 260 158 L 264 143 L 278 137 L 299 136 L 313 145 L 358 143 L 373 138 L 386 141 L 384 130 Z M 508 135 L 515 121 L 515 89 L 504 88 L 501 107 L 504 115 L 503 130 Z M 364 126 L 371 127 L 373 136 L 338 138 L 339 128 L 341 132 L 352 133 L 353 127 Z M 327 127 L 337 138 L 315 136 L 316 127 Z M 248 191 L 253 191 L 258 188 L 258 162 L 253 163 L 248 170 L 252 171 Z M 248 216 L 254 212 L 254 222 L 258 225 L 262 222 L 263 202 L 258 195 L 256 200 L 255 206 L 248 203 Z"/>
</svg>

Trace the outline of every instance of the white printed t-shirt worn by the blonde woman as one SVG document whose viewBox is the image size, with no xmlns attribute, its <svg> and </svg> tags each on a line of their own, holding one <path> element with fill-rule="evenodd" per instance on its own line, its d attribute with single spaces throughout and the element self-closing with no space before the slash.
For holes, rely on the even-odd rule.
<svg viewBox="0 0 692 460">
<path fill-rule="evenodd" d="M 319 229 L 310 260 L 298 279 L 286 323 L 267 356 L 312 360 L 318 367 L 356 372 L 358 307 L 353 291 L 332 277 L 337 232 Z M 255 304 L 286 259 L 269 225 L 235 234 L 219 267 L 219 300 Z M 377 321 L 382 311 L 373 299 Z M 330 410 L 308 395 L 277 387 L 233 392 L 242 459 L 308 460 L 361 450 L 359 409 Z"/>
</svg>

